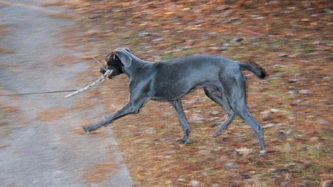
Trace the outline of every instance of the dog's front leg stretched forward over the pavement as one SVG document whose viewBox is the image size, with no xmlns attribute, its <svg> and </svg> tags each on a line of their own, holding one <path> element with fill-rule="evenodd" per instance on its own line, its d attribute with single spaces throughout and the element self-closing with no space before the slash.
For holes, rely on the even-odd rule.
<svg viewBox="0 0 333 187">
<path fill-rule="evenodd" d="M 145 99 L 140 99 L 137 101 L 130 100 L 130 102 L 125 107 L 123 107 L 119 111 L 111 114 L 110 116 L 105 117 L 104 121 L 101 121 L 94 125 L 85 126 L 83 129 L 86 132 L 95 131 L 96 129 L 98 129 L 102 126 L 109 125 L 112 121 L 114 121 L 120 117 L 123 117 L 128 114 L 138 113 L 144 102 L 145 102 Z"/>
</svg>

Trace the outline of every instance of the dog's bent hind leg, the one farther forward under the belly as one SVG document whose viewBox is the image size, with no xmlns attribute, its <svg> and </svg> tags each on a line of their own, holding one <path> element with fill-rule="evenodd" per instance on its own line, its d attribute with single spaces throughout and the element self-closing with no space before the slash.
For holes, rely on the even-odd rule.
<svg viewBox="0 0 333 187">
<path fill-rule="evenodd" d="M 235 112 L 230 108 L 228 101 L 223 96 L 223 93 L 217 89 L 211 88 L 211 87 L 204 87 L 205 94 L 208 98 L 213 100 L 215 103 L 220 105 L 225 112 L 228 114 L 228 119 L 223 123 L 222 126 L 220 126 L 217 131 L 214 133 L 214 137 L 220 136 L 225 129 L 229 126 L 229 124 L 232 122 L 232 120 L 235 117 Z"/>
</svg>

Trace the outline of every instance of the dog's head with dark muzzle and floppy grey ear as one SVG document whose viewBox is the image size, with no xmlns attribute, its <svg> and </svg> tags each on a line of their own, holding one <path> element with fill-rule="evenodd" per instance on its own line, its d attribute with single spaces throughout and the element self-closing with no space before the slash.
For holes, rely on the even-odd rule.
<svg viewBox="0 0 333 187">
<path fill-rule="evenodd" d="M 132 52 L 128 48 L 117 48 L 105 57 L 104 68 L 100 69 L 100 73 L 104 74 L 105 69 L 112 70 L 108 78 L 113 78 L 119 74 L 124 73 L 123 67 L 129 67 L 132 63 L 132 58 L 129 56 Z"/>
</svg>

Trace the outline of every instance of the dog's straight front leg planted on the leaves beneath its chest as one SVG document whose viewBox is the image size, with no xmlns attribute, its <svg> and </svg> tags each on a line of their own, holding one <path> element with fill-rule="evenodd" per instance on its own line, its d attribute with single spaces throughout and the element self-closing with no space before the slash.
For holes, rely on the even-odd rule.
<svg viewBox="0 0 333 187">
<path fill-rule="evenodd" d="M 189 122 L 186 119 L 186 116 L 184 114 L 184 110 L 182 107 L 182 103 L 180 100 L 175 100 L 171 102 L 172 106 L 175 108 L 176 114 L 178 116 L 179 122 L 184 130 L 184 137 L 181 139 L 178 139 L 177 141 L 179 143 L 192 143 L 190 140 L 190 132 L 191 127 L 189 125 Z"/>
</svg>

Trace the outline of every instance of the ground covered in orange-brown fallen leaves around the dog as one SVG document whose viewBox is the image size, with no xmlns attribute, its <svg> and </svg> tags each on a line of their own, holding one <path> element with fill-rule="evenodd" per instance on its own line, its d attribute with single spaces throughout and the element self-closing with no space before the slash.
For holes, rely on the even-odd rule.
<svg viewBox="0 0 333 187">
<path fill-rule="evenodd" d="M 66 38 L 68 45 L 85 46 L 100 59 L 117 47 L 151 61 L 215 54 L 252 59 L 269 74 L 261 80 L 244 71 L 247 104 L 266 127 L 266 156 L 259 155 L 256 136 L 239 118 L 212 137 L 218 128 L 212 124 L 222 124 L 225 112 L 201 89 L 183 99 L 193 129 L 190 145 L 175 141 L 183 132 L 168 103 L 148 102 L 140 114 L 114 122 L 136 186 L 332 185 L 330 1 L 73 0 L 45 6 L 58 5 L 74 10 L 74 16 L 61 17 L 81 23 L 81 32 L 68 30 L 75 35 Z M 128 94 L 122 75 L 92 91 L 89 100 L 111 113 Z"/>
</svg>

